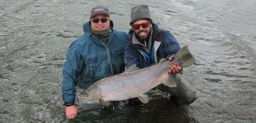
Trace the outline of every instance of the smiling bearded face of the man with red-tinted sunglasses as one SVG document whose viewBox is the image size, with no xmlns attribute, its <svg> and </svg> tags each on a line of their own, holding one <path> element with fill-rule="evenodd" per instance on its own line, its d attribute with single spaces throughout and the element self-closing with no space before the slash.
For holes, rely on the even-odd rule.
<svg viewBox="0 0 256 123">
<path fill-rule="evenodd" d="M 142 24 L 145 22 L 148 22 L 148 20 L 137 20 L 137 21 L 133 22 L 133 25 L 134 24 Z M 140 29 L 138 29 L 138 30 L 134 30 L 133 28 L 132 29 L 133 29 L 136 37 L 139 40 L 144 40 L 150 36 L 151 28 L 152 28 L 152 23 L 150 23 L 150 26 L 148 26 L 147 28 L 142 28 L 142 26 L 140 25 Z"/>
</svg>

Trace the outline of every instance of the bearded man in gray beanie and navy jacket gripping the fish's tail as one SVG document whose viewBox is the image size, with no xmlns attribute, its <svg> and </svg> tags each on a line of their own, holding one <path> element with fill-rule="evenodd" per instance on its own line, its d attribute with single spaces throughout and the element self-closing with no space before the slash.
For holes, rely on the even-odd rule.
<svg viewBox="0 0 256 123">
<path fill-rule="evenodd" d="M 129 31 L 131 38 L 124 51 L 126 68 L 133 64 L 141 69 L 146 68 L 157 64 L 161 58 L 172 60 L 181 49 L 169 31 L 158 29 L 151 19 L 147 5 L 131 8 L 130 25 L 132 26 Z M 169 73 L 175 73 L 175 78 L 178 80 L 177 86 L 168 87 L 161 84 L 157 88 L 169 92 L 172 99 L 181 105 L 193 103 L 198 98 L 198 93 L 188 81 L 181 77 L 182 68 L 174 65 L 170 69 Z"/>
</svg>

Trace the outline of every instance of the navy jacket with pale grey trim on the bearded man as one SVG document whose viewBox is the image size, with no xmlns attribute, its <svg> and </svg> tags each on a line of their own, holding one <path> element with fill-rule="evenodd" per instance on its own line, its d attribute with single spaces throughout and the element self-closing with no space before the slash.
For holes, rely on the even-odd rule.
<svg viewBox="0 0 256 123">
<path fill-rule="evenodd" d="M 169 31 L 159 30 L 158 26 L 154 22 L 152 22 L 152 24 L 152 46 L 154 46 L 152 53 L 154 53 L 154 58 L 152 55 L 148 54 L 148 56 L 152 56 L 151 58 L 153 58 L 153 61 L 157 64 L 161 58 L 167 58 L 171 55 L 175 55 L 181 47 Z M 129 31 L 131 38 L 129 43 L 125 46 L 124 51 L 126 68 L 129 68 L 133 64 L 136 64 L 136 66 L 141 69 L 146 68 L 150 65 L 148 64 L 145 56 L 147 53 L 140 45 L 132 43 L 133 32 L 134 31 L 132 29 Z M 150 51 L 152 51 L 152 48 Z"/>
</svg>

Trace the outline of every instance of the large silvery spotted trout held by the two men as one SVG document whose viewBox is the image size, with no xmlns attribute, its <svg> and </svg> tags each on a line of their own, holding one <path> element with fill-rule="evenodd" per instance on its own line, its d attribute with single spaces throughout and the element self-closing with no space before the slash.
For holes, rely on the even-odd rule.
<svg viewBox="0 0 256 123">
<path fill-rule="evenodd" d="M 99 100 L 104 106 L 109 106 L 111 101 L 121 101 L 138 97 L 143 103 L 148 102 L 144 93 L 161 83 L 175 87 L 174 74 L 168 74 L 173 65 L 187 67 L 195 63 L 195 58 L 190 54 L 188 46 L 181 48 L 172 61 L 165 60 L 159 64 L 139 69 L 136 65 L 130 66 L 124 73 L 116 74 L 99 80 L 85 89 L 81 94 L 83 100 Z"/>
</svg>

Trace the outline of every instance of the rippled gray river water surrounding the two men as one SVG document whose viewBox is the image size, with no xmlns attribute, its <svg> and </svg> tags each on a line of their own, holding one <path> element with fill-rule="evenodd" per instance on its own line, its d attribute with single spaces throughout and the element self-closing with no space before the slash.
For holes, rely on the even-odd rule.
<svg viewBox="0 0 256 123">
<path fill-rule="evenodd" d="M 198 90 L 191 105 L 148 92 L 146 104 L 80 109 L 67 120 L 62 106 L 62 66 L 69 45 L 83 34 L 96 5 L 109 8 L 114 29 L 130 29 L 130 10 L 150 7 L 196 63 L 183 76 Z M 255 0 L 0 0 L 0 122 L 256 122 Z"/>
</svg>

